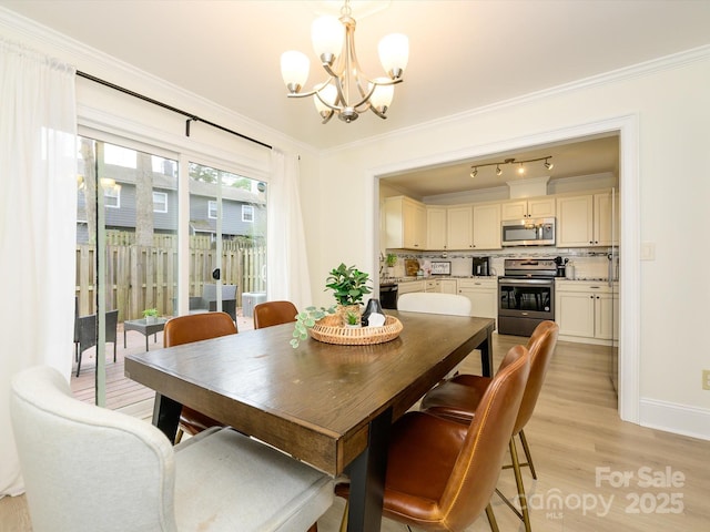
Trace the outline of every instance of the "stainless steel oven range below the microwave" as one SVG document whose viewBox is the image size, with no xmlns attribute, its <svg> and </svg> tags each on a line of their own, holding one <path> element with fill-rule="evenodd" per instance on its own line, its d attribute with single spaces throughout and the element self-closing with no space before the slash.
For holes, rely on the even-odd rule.
<svg viewBox="0 0 710 532">
<path fill-rule="evenodd" d="M 507 258 L 498 278 L 498 332 L 530 336 L 547 319 L 555 320 L 554 259 Z"/>
</svg>

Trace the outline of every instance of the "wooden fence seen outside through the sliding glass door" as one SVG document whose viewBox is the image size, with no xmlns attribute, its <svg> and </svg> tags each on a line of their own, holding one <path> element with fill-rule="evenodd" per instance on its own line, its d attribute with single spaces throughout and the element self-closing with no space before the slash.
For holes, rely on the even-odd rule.
<svg viewBox="0 0 710 532">
<path fill-rule="evenodd" d="M 178 246 L 172 235 L 155 235 L 151 247 L 138 246 L 126 233 L 106 237 L 106 309 L 119 309 L 119 321 L 143 317 L 145 308 L 161 316 L 176 315 Z M 129 234 L 130 235 L 130 234 Z M 239 241 L 222 244 L 219 260 L 210 236 L 190 242 L 190 296 L 202 295 L 205 283 L 214 283 L 220 267 L 222 283 L 236 285 L 237 307 L 242 294 L 266 291 L 266 247 Z M 95 246 L 77 246 L 77 296 L 81 316 L 95 313 Z"/>
</svg>

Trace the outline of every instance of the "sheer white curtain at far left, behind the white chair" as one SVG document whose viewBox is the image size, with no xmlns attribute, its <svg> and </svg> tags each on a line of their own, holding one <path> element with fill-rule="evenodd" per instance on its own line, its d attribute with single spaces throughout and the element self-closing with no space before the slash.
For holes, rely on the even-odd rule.
<svg viewBox="0 0 710 532">
<path fill-rule="evenodd" d="M 68 380 L 71 371 L 74 74 L 0 37 L 0 497 L 23 491 L 10 426 L 12 376 L 40 364 Z"/>
</svg>

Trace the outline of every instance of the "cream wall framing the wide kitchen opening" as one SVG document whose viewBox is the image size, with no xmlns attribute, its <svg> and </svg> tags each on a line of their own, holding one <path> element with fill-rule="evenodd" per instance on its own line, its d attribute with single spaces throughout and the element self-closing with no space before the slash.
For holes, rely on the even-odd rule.
<svg viewBox="0 0 710 532">
<path fill-rule="evenodd" d="M 629 390 L 638 377 L 638 405 L 628 406 L 631 413 L 625 419 L 710 439 L 710 391 L 701 389 L 701 369 L 710 368 L 704 311 L 710 253 L 699 229 L 710 201 L 710 49 L 594 81 L 324 154 L 322 194 L 307 197 L 305 208 L 317 208 L 322 219 L 332 223 L 308 229 L 314 247 L 321 249 L 311 280 L 322 286 L 323 272 L 341 260 L 375 268 L 374 175 L 525 147 L 525 142 L 531 145 L 539 137 L 571 135 L 589 124 L 626 117 L 631 133 L 626 142 L 633 139 L 637 145 L 625 146 L 622 137 L 627 161 L 621 191 L 626 180 L 626 193 L 636 197 L 622 201 L 637 206 L 638 219 L 633 208 L 627 209 L 622 231 L 633 235 L 638 223 L 636 239 L 655 243 L 656 259 L 638 263 L 636 246 L 625 247 L 622 260 L 635 263 L 627 264 L 626 272 L 638 276 L 622 278 L 627 289 L 621 291 L 621 328 L 630 332 L 622 338 L 622 356 L 632 366 L 638 357 L 638 376 L 628 368 L 622 374 L 622 386 Z M 344 200 L 353 206 L 351 212 L 343 212 Z M 621 212 L 623 216 L 623 207 Z M 356 229 L 346 232 L 347 224 Z M 625 301 L 625 296 L 635 300 Z M 327 303 L 324 297 L 315 303 Z M 632 338 L 635 321 L 639 345 Z"/>
</svg>

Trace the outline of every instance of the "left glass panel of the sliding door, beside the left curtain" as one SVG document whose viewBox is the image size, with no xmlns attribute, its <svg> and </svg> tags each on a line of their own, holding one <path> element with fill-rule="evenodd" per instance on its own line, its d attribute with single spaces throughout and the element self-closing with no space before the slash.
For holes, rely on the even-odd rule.
<svg viewBox="0 0 710 532">
<path fill-rule="evenodd" d="M 145 327 L 151 309 L 174 314 L 178 163 L 88 137 L 79 157 L 72 390 L 125 409 L 153 395 L 123 377 L 123 357 L 162 346 Z"/>
</svg>

